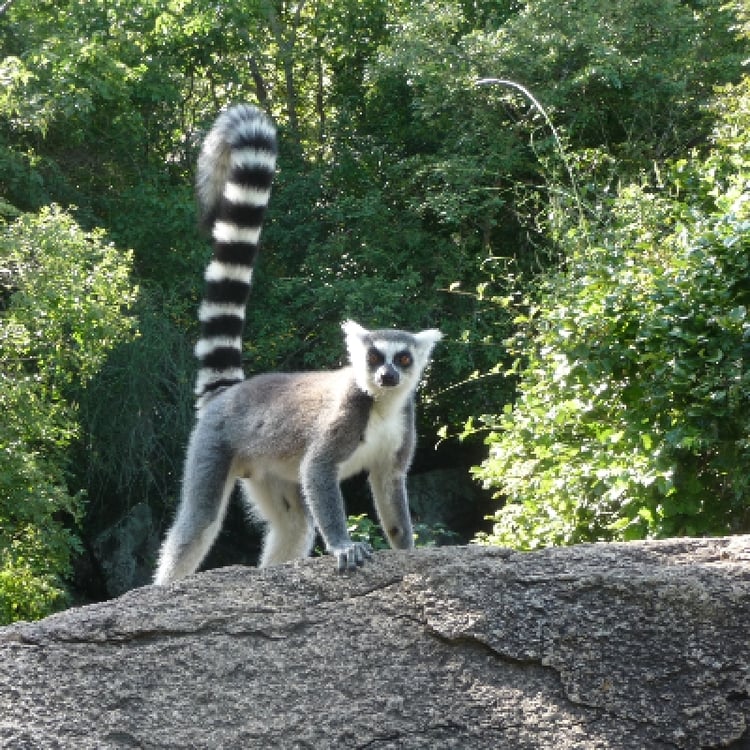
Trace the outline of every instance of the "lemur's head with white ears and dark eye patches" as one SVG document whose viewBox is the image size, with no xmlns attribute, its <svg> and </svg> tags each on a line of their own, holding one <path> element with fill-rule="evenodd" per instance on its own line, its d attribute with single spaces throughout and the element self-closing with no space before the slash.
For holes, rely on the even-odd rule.
<svg viewBox="0 0 750 750">
<path fill-rule="evenodd" d="M 368 331 L 349 320 L 342 326 L 357 384 L 377 398 L 388 391 L 414 390 L 440 331 Z"/>
</svg>

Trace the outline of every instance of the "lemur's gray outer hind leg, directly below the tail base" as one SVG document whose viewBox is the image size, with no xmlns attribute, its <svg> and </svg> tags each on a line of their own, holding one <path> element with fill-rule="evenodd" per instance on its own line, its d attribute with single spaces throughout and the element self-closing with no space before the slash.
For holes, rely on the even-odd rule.
<svg viewBox="0 0 750 750">
<path fill-rule="evenodd" d="M 236 477 L 232 459 L 202 442 L 200 424 L 188 447 L 182 498 L 159 553 L 154 583 L 162 585 L 195 573 L 219 534 Z"/>
</svg>

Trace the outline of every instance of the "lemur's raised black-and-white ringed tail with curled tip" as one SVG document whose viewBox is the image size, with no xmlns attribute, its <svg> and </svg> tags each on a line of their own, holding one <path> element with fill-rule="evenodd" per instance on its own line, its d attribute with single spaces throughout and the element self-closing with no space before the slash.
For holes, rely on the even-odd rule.
<svg viewBox="0 0 750 750">
<path fill-rule="evenodd" d="M 245 378 L 245 307 L 275 167 L 276 128 L 246 104 L 217 118 L 198 158 L 196 192 L 214 245 L 198 313 L 198 410 L 213 393 Z"/>
</svg>

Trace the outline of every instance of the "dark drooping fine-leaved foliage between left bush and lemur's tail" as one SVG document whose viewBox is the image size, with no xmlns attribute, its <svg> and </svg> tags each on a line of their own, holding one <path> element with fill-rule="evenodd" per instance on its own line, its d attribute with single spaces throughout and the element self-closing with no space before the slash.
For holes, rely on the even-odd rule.
<svg viewBox="0 0 750 750">
<path fill-rule="evenodd" d="M 86 487 L 87 531 L 137 503 L 163 513 L 174 501 L 195 408 L 193 353 L 170 316 L 192 302 L 141 290 L 138 337 L 113 349 L 81 395 L 76 478 Z"/>
</svg>

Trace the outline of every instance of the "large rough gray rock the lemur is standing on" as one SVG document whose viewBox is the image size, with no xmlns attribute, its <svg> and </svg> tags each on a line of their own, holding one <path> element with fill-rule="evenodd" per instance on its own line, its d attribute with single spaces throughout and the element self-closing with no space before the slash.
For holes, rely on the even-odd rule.
<svg viewBox="0 0 750 750">
<path fill-rule="evenodd" d="M 750 537 L 333 568 L 0 629 L 0 745 L 750 747 Z"/>
</svg>

